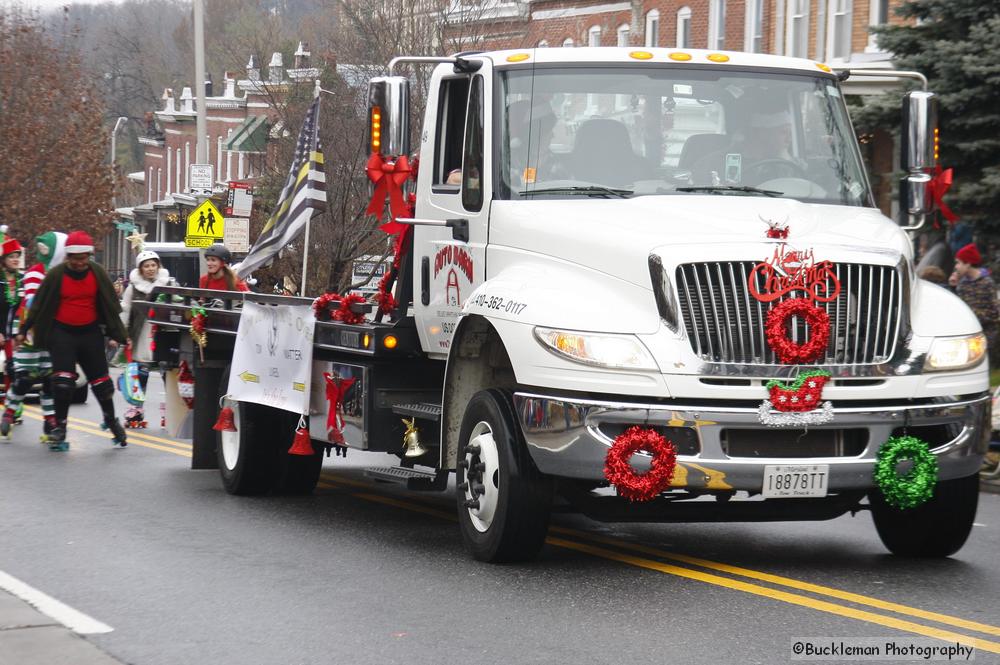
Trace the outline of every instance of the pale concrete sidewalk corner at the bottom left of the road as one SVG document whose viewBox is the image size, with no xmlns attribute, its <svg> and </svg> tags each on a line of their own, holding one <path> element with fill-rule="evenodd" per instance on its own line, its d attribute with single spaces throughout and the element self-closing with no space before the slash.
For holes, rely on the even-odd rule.
<svg viewBox="0 0 1000 665">
<path fill-rule="evenodd" d="M 0 591 L 0 665 L 122 665 L 20 598 Z"/>
</svg>

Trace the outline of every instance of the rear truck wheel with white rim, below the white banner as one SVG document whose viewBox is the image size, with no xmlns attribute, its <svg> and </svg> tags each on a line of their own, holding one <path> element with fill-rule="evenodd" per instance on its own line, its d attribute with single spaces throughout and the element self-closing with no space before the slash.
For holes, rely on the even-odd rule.
<svg viewBox="0 0 1000 665">
<path fill-rule="evenodd" d="M 219 390 L 229 386 L 229 369 L 222 375 Z M 219 396 L 220 399 L 222 395 Z M 273 436 L 273 409 L 227 400 L 233 409 L 235 432 L 216 432 L 216 452 L 222 485 L 230 494 L 265 494 L 274 485 L 278 470 L 277 447 Z M 216 412 L 218 415 L 218 412 Z"/>
</svg>

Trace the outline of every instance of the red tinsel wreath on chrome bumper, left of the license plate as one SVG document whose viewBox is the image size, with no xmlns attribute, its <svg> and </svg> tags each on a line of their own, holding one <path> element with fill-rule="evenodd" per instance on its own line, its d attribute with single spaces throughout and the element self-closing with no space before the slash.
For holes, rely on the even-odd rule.
<svg viewBox="0 0 1000 665">
<path fill-rule="evenodd" d="M 653 455 L 649 471 L 635 472 L 629 460 L 645 450 Z M 630 501 L 649 501 L 670 486 L 677 466 L 674 444 L 653 429 L 630 427 L 617 437 L 604 461 L 604 477 Z"/>
</svg>

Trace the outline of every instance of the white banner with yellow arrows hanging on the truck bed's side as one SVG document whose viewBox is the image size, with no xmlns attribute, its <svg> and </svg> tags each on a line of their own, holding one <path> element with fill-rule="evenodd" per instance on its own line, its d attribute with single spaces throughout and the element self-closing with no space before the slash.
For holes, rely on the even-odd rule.
<svg viewBox="0 0 1000 665">
<path fill-rule="evenodd" d="M 311 305 L 247 301 L 229 374 L 232 399 L 308 413 L 315 328 Z"/>
</svg>

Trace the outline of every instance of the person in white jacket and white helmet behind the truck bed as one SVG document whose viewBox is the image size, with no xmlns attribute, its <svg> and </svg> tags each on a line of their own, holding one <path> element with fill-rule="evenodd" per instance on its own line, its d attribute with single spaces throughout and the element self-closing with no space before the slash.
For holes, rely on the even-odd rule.
<svg viewBox="0 0 1000 665">
<path fill-rule="evenodd" d="M 132 340 L 133 360 L 139 362 L 139 383 L 143 393 L 149 380 L 149 363 L 151 360 L 149 344 L 152 341 L 148 334 L 142 334 L 146 327 L 148 308 L 145 303 L 152 300 L 153 289 L 157 286 L 177 286 L 177 280 L 170 276 L 170 271 L 160 263 L 160 256 L 153 251 L 143 250 L 135 257 L 136 268 L 129 274 L 129 283 L 122 293 L 122 323 L 128 330 Z M 145 427 L 143 408 L 130 406 L 125 412 L 126 427 Z"/>
</svg>

